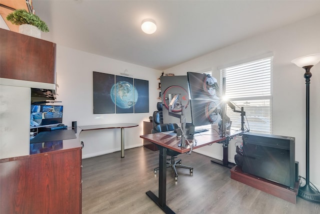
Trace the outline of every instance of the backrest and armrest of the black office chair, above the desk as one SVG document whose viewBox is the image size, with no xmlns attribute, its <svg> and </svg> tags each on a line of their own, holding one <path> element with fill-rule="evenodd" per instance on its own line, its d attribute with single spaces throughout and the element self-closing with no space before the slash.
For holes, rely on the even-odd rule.
<svg viewBox="0 0 320 214">
<path fill-rule="evenodd" d="M 175 123 L 163 124 L 162 103 L 161 102 L 158 102 L 156 104 L 156 108 L 157 108 L 157 111 L 154 111 L 153 115 L 152 115 L 152 124 L 153 124 L 152 133 L 164 132 L 164 131 L 174 131 L 176 128 L 178 128 L 178 125 Z"/>
</svg>

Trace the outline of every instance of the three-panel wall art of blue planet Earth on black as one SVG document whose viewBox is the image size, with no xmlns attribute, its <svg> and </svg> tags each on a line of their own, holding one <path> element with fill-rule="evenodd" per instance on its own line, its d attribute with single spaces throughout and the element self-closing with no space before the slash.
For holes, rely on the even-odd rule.
<svg viewBox="0 0 320 214">
<path fill-rule="evenodd" d="M 148 112 L 147 80 L 93 71 L 93 114 Z"/>
</svg>

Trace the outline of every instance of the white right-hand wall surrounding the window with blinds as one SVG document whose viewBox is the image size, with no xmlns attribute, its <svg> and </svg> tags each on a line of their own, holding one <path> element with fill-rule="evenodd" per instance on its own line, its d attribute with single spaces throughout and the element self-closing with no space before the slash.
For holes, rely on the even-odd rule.
<svg viewBox="0 0 320 214">
<path fill-rule="evenodd" d="M 295 137 L 295 160 L 305 177 L 305 79 L 304 70 L 291 63 L 297 57 L 320 53 L 320 15 L 256 36 L 197 59 L 167 69 L 164 73 L 185 75 L 212 69 L 219 80 L 218 67 L 273 53 L 273 134 Z M 217 31 L 218 33 L 218 31 Z M 214 38 L 212 38 L 214 40 Z M 310 80 L 310 181 L 320 185 L 320 64 L 311 69 Z M 238 138 L 237 140 L 240 140 Z M 196 152 L 222 159 L 221 145 L 206 146 Z M 234 141 L 229 145 L 229 161 L 234 162 Z"/>
</svg>

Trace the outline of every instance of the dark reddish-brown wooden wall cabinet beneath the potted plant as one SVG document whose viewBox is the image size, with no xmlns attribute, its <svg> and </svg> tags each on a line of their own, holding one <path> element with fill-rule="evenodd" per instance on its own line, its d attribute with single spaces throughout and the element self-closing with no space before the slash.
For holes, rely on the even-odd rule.
<svg viewBox="0 0 320 214">
<path fill-rule="evenodd" d="M 52 42 L 0 29 L 0 77 L 55 84 Z"/>
</svg>

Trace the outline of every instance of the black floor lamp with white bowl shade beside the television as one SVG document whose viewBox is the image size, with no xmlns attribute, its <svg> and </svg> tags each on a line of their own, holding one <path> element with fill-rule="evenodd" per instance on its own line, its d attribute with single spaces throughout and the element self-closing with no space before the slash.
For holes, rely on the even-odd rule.
<svg viewBox="0 0 320 214">
<path fill-rule="evenodd" d="M 305 70 L 304 78 L 305 78 L 305 86 L 306 86 L 306 135 L 305 135 L 305 165 L 306 165 L 306 173 L 305 173 L 305 185 L 300 187 L 298 190 L 298 196 L 314 202 L 320 203 L 320 192 L 317 189 L 314 189 L 310 186 L 309 181 L 309 85 L 310 78 L 312 76 L 310 69 L 312 66 L 316 65 L 320 61 L 320 54 L 312 54 L 304 57 L 300 57 L 292 60 L 291 62 L 301 67 Z"/>
</svg>

